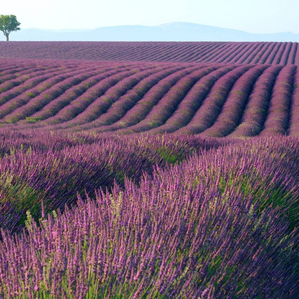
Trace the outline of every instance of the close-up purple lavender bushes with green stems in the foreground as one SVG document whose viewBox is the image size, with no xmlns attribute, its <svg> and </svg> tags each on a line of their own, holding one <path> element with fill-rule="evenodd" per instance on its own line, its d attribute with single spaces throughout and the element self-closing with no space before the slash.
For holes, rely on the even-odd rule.
<svg viewBox="0 0 299 299">
<path fill-rule="evenodd" d="M 299 140 L 0 132 L 2 298 L 298 298 Z"/>
</svg>

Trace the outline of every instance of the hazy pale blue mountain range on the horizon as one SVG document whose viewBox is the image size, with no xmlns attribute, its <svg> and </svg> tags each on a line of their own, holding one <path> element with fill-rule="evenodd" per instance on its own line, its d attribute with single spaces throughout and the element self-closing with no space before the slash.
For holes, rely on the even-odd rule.
<svg viewBox="0 0 299 299">
<path fill-rule="evenodd" d="M 4 36 L 3 36 L 4 40 Z M 186 22 L 158 26 L 124 25 L 82 29 L 21 29 L 10 33 L 11 41 L 231 41 L 231 42 L 298 42 L 299 34 L 248 33 L 241 30 Z"/>
</svg>

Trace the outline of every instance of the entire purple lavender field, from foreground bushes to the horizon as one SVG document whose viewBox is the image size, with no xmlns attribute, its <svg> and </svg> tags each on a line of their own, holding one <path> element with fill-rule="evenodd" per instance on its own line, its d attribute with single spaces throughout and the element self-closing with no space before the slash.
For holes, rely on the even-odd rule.
<svg viewBox="0 0 299 299">
<path fill-rule="evenodd" d="M 298 298 L 298 44 L 112 44 L 0 42 L 0 298 Z"/>
</svg>

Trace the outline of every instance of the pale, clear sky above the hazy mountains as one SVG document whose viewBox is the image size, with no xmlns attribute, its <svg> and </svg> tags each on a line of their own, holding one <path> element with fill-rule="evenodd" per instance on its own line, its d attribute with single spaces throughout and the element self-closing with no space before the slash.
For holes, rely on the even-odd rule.
<svg viewBox="0 0 299 299">
<path fill-rule="evenodd" d="M 21 28 L 93 29 L 192 22 L 251 33 L 299 33 L 298 0 L 14 0 L 0 5 Z"/>
</svg>

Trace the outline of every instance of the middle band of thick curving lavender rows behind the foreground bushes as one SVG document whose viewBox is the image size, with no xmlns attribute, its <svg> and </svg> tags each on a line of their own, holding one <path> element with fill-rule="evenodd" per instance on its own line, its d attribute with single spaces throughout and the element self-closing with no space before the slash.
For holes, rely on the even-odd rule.
<svg viewBox="0 0 299 299">
<path fill-rule="evenodd" d="M 295 65 L 0 62 L 10 129 L 299 135 Z"/>
</svg>

